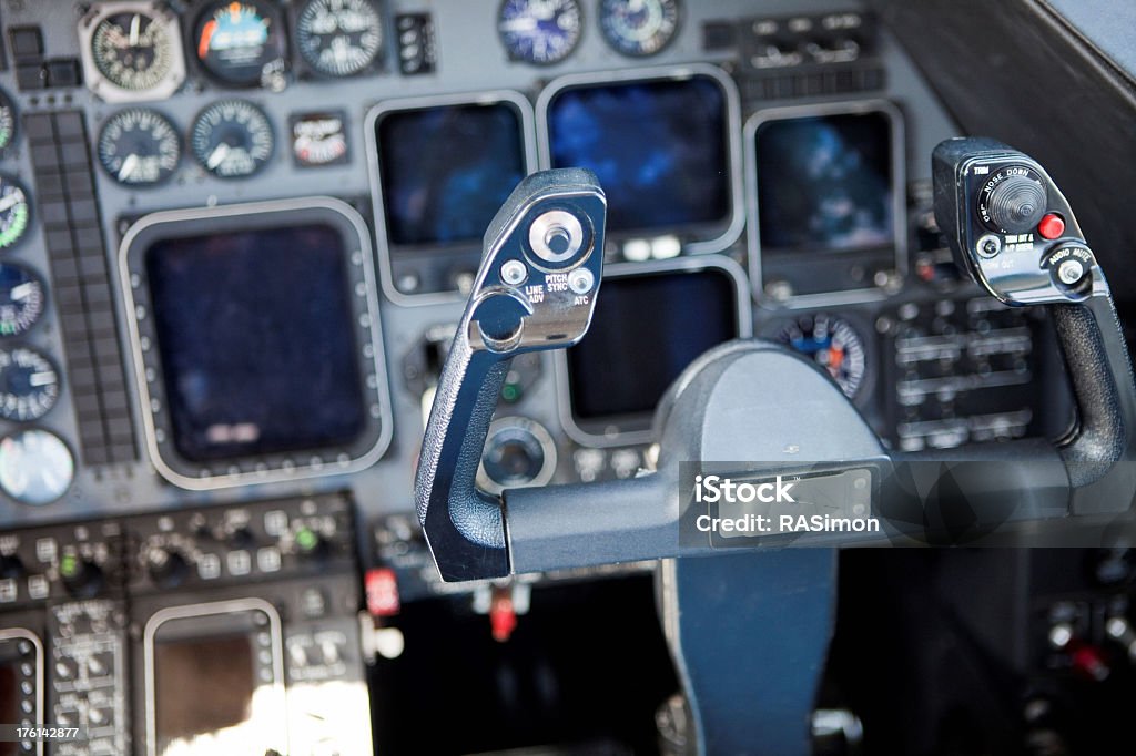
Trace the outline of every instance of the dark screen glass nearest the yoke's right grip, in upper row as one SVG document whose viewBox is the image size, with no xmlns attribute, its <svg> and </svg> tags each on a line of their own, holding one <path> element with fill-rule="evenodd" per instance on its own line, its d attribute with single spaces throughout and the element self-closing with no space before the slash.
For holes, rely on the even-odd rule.
<svg viewBox="0 0 1136 756">
<path fill-rule="evenodd" d="M 772 120 L 754 138 L 762 253 L 894 243 L 886 114 Z"/>
</svg>

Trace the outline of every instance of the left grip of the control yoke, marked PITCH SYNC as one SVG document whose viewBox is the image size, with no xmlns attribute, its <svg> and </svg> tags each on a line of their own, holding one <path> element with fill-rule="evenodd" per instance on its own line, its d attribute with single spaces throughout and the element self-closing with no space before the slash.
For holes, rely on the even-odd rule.
<svg viewBox="0 0 1136 756">
<path fill-rule="evenodd" d="M 510 572 L 501 498 L 477 467 L 509 362 L 587 331 L 603 272 L 607 200 L 595 175 L 524 179 L 485 232 L 482 264 L 438 380 L 415 476 L 415 503 L 445 580 Z"/>
</svg>

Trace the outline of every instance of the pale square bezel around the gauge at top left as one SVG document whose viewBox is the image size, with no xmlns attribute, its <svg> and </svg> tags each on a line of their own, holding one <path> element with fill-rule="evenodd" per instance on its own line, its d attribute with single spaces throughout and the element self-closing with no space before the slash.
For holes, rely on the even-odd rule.
<svg viewBox="0 0 1136 756">
<path fill-rule="evenodd" d="M 149 90 L 126 90 L 106 77 L 94 61 L 94 32 L 99 24 L 118 14 L 142 14 L 150 16 L 154 24 L 162 24 L 169 37 L 169 72 Z M 92 6 L 78 23 L 80 57 L 83 60 L 83 81 L 86 87 L 103 102 L 149 102 L 165 100 L 185 82 L 185 49 L 182 45 L 182 25 L 175 12 L 156 0 L 116 0 Z"/>
</svg>

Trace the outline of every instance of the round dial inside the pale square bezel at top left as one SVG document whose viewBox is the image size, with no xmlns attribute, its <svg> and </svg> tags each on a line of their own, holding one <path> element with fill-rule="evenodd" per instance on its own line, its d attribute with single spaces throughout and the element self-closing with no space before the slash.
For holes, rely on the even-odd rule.
<svg viewBox="0 0 1136 756">
<path fill-rule="evenodd" d="M 91 56 L 95 68 L 117 87 L 144 92 L 161 84 L 174 68 L 176 31 L 142 10 L 107 16 L 94 27 Z"/>
</svg>

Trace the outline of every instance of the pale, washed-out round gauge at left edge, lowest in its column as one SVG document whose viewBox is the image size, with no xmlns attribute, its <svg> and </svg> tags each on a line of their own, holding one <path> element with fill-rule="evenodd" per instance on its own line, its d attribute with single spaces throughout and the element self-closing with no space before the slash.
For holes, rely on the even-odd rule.
<svg viewBox="0 0 1136 756">
<path fill-rule="evenodd" d="M 39 428 L 0 440 L 0 490 L 24 504 L 50 504 L 75 478 L 75 457 L 58 436 Z"/>
</svg>

